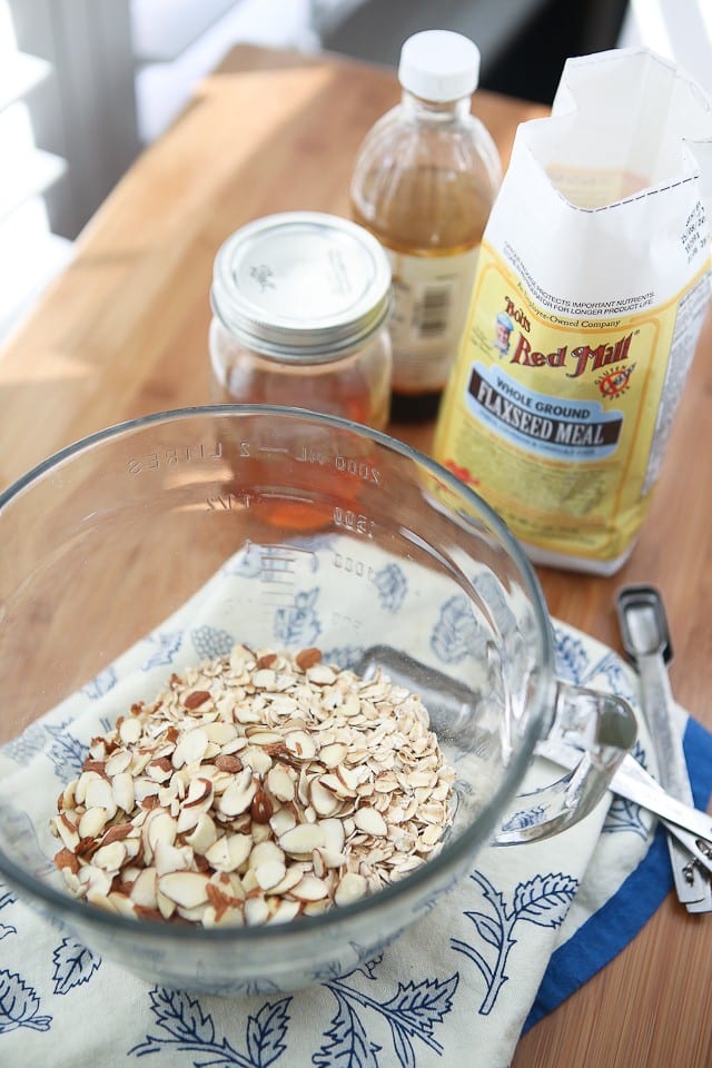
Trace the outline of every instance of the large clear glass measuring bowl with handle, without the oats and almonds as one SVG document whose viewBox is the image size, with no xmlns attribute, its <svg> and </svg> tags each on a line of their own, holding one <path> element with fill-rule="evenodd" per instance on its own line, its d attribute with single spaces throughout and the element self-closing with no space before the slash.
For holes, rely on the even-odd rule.
<svg viewBox="0 0 712 1068">
<path fill-rule="evenodd" d="M 545 603 L 501 521 L 357 424 L 263 406 L 122 424 L 2 494 L 0 536 L 0 878 L 165 986 L 286 990 L 354 968 L 493 833 L 525 841 L 586 814 L 633 741 L 623 702 L 556 681 Z M 457 771 L 442 851 L 369 898 L 284 926 L 137 922 L 70 898 L 48 823 L 90 738 L 234 642 L 318 645 L 423 694 Z M 580 768 L 515 798 L 552 730 L 581 748 Z"/>
</svg>

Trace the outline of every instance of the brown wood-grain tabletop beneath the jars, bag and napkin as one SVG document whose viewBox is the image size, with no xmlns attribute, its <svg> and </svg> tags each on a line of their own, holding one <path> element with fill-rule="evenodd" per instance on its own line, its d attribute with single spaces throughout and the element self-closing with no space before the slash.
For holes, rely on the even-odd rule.
<svg viewBox="0 0 712 1068">
<path fill-rule="evenodd" d="M 119 182 L 77 255 L 0 350 L 0 485 L 57 448 L 208 400 L 208 294 L 220 243 L 258 216 L 347 214 L 355 152 L 398 98 L 393 72 L 335 57 L 233 50 Z M 506 166 L 537 105 L 478 92 Z M 681 399 L 652 512 L 612 578 L 540 568 L 552 613 L 620 647 L 613 597 L 664 593 L 679 700 L 712 728 L 712 323 Z M 393 427 L 425 451 L 432 427 Z M 668 898 L 609 967 L 538 1024 L 514 1068 L 709 1068 L 712 917 Z M 474 1061 L 473 1061 L 474 1062 Z M 459 1068 L 459 1066 L 447 1066 Z"/>
</svg>

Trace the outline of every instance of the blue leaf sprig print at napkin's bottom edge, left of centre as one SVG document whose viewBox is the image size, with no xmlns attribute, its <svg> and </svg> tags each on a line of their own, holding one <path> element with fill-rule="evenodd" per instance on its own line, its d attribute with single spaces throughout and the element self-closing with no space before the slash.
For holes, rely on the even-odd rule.
<svg viewBox="0 0 712 1068">
<path fill-rule="evenodd" d="M 195 1066 L 211 1068 L 268 1068 L 286 1050 L 285 1037 L 289 1017 L 287 1007 L 291 998 L 279 1001 L 266 1001 L 257 1016 L 247 1020 L 247 1055 L 240 1054 L 227 1038 L 219 1040 L 215 1034 L 215 1024 L 209 1012 L 204 1012 L 200 1002 L 180 990 L 165 990 L 154 987 L 149 993 L 151 1012 L 156 1022 L 168 1036 L 147 1035 L 145 1041 L 134 1046 L 129 1056 L 144 1057 L 147 1054 L 167 1051 L 171 1056 L 171 1068 L 176 1065 L 176 1051 L 190 1054 Z M 196 1060 L 207 1055 L 208 1059 Z"/>
</svg>

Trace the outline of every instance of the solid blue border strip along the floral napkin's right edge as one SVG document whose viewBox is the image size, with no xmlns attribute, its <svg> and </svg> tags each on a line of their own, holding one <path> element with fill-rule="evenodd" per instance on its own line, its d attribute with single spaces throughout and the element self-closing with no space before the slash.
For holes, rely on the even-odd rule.
<svg viewBox="0 0 712 1068">
<path fill-rule="evenodd" d="M 688 720 L 683 739 L 694 803 L 706 809 L 712 792 L 712 734 Z M 663 828 L 644 859 L 603 908 L 552 953 L 522 1034 L 604 968 L 659 909 L 674 883 Z"/>
</svg>

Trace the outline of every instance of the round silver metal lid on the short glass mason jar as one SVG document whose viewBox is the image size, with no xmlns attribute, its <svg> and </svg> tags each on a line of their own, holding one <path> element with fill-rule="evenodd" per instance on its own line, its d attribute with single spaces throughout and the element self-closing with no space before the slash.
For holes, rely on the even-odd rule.
<svg viewBox="0 0 712 1068">
<path fill-rule="evenodd" d="M 375 237 L 318 211 L 241 227 L 215 259 L 212 310 L 246 348 L 289 362 L 345 356 L 385 323 L 390 265 Z"/>
</svg>

